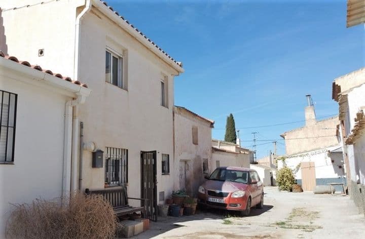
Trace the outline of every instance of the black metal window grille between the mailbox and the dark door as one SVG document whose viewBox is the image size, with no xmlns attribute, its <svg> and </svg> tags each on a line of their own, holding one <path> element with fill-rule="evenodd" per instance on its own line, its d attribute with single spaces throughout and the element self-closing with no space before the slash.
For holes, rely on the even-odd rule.
<svg viewBox="0 0 365 239">
<path fill-rule="evenodd" d="M 105 182 L 109 185 L 128 182 L 128 149 L 106 147 Z"/>
</svg>

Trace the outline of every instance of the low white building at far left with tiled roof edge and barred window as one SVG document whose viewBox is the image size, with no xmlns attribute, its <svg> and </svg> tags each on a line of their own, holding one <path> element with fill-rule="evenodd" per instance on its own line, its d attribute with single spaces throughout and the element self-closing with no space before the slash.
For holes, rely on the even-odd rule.
<svg viewBox="0 0 365 239">
<path fill-rule="evenodd" d="M 0 52 L 0 238 L 10 204 L 67 197 L 74 189 L 72 112 L 89 94 L 78 81 Z"/>
</svg>

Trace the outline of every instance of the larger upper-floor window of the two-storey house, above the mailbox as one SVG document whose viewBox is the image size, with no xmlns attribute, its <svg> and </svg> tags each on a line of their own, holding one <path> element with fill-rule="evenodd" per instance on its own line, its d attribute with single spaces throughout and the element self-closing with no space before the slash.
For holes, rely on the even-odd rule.
<svg viewBox="0 0 365 239">
<path fill-rule="evenodd" d="M 117 55 L 109 50 L 105 51 L 105 82 L 122 89 L 127 89 L 123 56 Z"/>
</svg>

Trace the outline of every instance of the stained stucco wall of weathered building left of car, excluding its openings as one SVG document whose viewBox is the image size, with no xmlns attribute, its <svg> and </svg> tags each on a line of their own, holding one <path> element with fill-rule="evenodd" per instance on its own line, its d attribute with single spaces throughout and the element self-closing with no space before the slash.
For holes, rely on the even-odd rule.
<svg viewBox="0 0 365 239">
<path fill-rule="evenodd" d="M 193 144 L 192 127 L 198 128 L 198 144 Z M 210 123 L 192 116 L 184 110 L 175 109 L 174 113 L 174 142 L 175 142 L 175 160 L 174 160 L 174 189 L 180 187 L 180 161 L 189 161 L 191 165 L 190 179 L 188 185 L 192 194 L 196 194 L 198 187 L 204 182 L 203 160 L 208 160 L 208 174 L 212 172 L 211 160 L 211 128 Z"/>
</svg>

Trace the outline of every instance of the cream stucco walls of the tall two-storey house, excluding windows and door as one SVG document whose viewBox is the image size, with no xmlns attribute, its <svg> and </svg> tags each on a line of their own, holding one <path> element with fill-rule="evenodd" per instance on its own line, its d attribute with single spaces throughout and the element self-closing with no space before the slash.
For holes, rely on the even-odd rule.
<svg viewBox="0 0 365 239">
<path fill-rule="evenodd" d="M 93 90 L 88 102 L 79 108 L 80 121 L 84 122 L 84 141 L 95 142 L 103 151 L 105 147 L 128 149 L 128 195 L 131 197 L 140 196 L 140 152 L 156 150 L 157 196 L 160 191 L 168 195 L 173 190 L 173 173 L 162 177 L 161 154 L 170 155 L 172 169 L 173 77 L 177 71 L 95 7 L 82 20 L 81 48 L 75 54 L 76 16 L 83 9 L 77 7 L 85 5 L 85 1 L 61 0 L 32 5 L 39 2 L 2 1 L 3 9 L 27 4 L 30 7 L 1 12 L 0 38 L 5 39 L 0 44 L 1 50 L 73 78 L 74 57 L 79 54 L 78 79 Z M 26 22 L 27 27 L 19 27 L 20 22 Z M 105 83 L 106 47 L 125 51 L 128 91 Z M 44 49 L 44 56 L 38 56 L 39 49 Z M 168 108 L 160 105 L 162 74 L 167 76 Z M 91 168 L 91 164 L 91 152 L 84 150 L 82 190 L 104 187 L 104 168 Z"/>
</svg>

